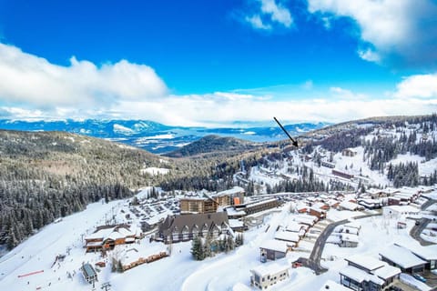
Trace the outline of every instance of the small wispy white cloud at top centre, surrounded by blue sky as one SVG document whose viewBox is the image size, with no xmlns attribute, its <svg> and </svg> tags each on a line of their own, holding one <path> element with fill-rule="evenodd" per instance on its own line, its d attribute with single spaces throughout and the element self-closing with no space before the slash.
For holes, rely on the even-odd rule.
<svg viewBox="0 0 437 291">
<path fill-rule="evenodd" d="M 271 30 L 273 25 L 290 28 L 293 24 L 290 10 L 276 0 L 257 0 L 257 13 L 246 15 L 245 21 L 255 29 Z"/>
</svg>

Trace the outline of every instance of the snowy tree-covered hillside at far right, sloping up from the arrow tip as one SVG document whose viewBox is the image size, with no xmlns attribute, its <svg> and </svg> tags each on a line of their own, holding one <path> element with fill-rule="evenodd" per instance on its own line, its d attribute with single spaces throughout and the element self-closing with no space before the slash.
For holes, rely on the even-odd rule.
<svg viewBox="0 0 437 291">
<path fill-rule="evenodd" d="M 392 165 L 392 160 L 400 155 L 420 156 L 424 162 L 437 157 L 437 115 L 368 119 L 342 126 L 328 128 L 334 133 L 307 143 L 304 152 L 310 154 L 316 146 L 332 152 L 362 146 L 363 161 L 371 170 L 386 175 L 395 187 L 437 183 L 437 171 L 420 176 L 417 162 L 406 160 Z M 317 159 L 318 153 L 315 155 Z"/>
</svg>

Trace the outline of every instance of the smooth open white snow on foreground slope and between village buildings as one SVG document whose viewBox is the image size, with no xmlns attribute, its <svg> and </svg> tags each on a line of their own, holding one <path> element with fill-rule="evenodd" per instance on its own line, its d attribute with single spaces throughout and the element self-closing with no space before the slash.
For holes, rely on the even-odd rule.
<svg viewBox="0 0 437 291">
<path fill-rule="evenodd" d="M 147 196 L 145 190 L 139 197 Z M 41 229 L 35 236 L 15 247 L 11 252 L 0 258 L 0 290 L 90 290 L 91 286 L 84 280 L 79 268 L 85 262 L 94 265 L 105 261 L 100 254 L 85 253 L 83 237 L 92 233 L 96 226 L 102 225 L 107 216 L 116 216 L 117 220 L 129 213 L 130 199 L 114 201 L 109 204 L 96 203 L 87 206 L 85 211 L 67 216 L 57 223 Z M 155 204 L 154 204 L 155 205 Z M 158 205 L 158 204 L 157 204 Z M 97 289 L 105 282 L 110 282 L 111 290 L 231 290 L 233 286 L 250 286 L 249 270 L 259 266 L 259 246 L 274 237 L 275 232 L 296 214 L 290 213 L 291 202 L 280 209 L 265 211 L 256 219 L 262 221 L 244 233 L 244 245 L 229 252 L 207 258 L 204 261 L 194 261 L 190 254 L 191 243 L 179 243 L 165 246 L 160 243 L 150 243 L 148 237 L 140 244 L 117 246 L 110 256 L 123 253 L 123 250 L 135 247 L 142 254 L 153 254 L 156 250 L 167 249 L 171 256 L 150 264 L 144 264 L 127 270 L 125 273 L 111 272 L 110 259 L 107 266 L 99 268 Z M 123 212 L 121 211 L 123 210 Z M 350 219 L 362 215 L 361 212 L 338 211 L 331 209 L 327 220 L 313 226 L 322 229 L 330 221 Z M 139 219 L 139 218 L 138 218 Z M 414 225 L 407 219 L 405 229 L 396 228 L 397 220 L 385 216 L 373 216 L 357 219 L 361 224 L 359 245 L 356 248 L 341 248 L 326 244 L 322 253 L 321 264 L 328 272 L 316 276 L 306 267 L 290 268 L 290 277 L 271 290 L 320 290 L 325 282 L 340 281 L 339 270 L 346 266 L 343 258 L 352 254 L 379 257 L 379 252 L 393 243 L 403 245 L 418 244 L 409 236 Z M 136 220 L 133 220 L 136 223 Z M 311 236 L 311 237 L 310 237 Z M 292 251 L 283 259 L 282 264 L 289 266 L 300 256 L 309 257 L 317 233 L 300 241 L 300 251 Z M 375 244 L 375 242 L 378 242 Z M 67 255 L 69 249 L 69 255 Z M 64 262 L 53 265 L 56 255 L 66 254 Z M 116 255 L 117 255 L 116 254 Z M 18 277 L 31 272 L 44 271 L 32 276 Z M 72 275 L 71 278 L 68 274 Z M 408 278 L 409 280 L 415 280 Z M 414 282 L 413 282 L 414 283 Z"/>
</svg>

